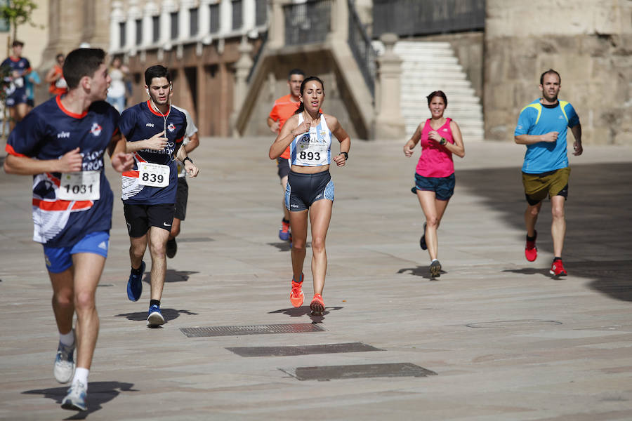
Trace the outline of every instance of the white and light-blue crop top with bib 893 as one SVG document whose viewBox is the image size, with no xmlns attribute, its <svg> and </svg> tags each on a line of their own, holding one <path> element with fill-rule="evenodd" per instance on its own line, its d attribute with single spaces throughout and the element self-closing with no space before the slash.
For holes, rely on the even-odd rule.
<svg viewBox="0 0 632 421">
<path fill-rule="evenodd" d="M 298 125 L 303 123 L 303 113 L 298 114 Z M 309 132 L 296 136 L 290 144 L 291 165 L 324 166 L 331 163 L 331 131 L 324 115 L 320 123 Z"/>
</svg>

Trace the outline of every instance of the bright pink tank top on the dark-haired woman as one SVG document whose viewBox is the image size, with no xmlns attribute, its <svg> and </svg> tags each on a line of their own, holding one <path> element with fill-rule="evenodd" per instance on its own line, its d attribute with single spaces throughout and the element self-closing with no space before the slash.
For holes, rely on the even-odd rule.
<svg viewBox="0 0 632 421">
<path fill-rule="evenodd" d="M 450 121 L 452 119 L 446 118 L 445 123 L 437 129 L 437 132 L 448 142 L 454 143 Z M 419 142 L 419 145 L 421 145 L 421 156 L 419 156 L 416 173 L 422 177 L 447 177 L 452 175 L 454 173 L 452 152 L 434 140 L 428 139 L 430 131 L 433 131 L 433 128 L 430 127 L 430 119 L 428 119 L 421 131 L 421 141 Z"/>
</svg>

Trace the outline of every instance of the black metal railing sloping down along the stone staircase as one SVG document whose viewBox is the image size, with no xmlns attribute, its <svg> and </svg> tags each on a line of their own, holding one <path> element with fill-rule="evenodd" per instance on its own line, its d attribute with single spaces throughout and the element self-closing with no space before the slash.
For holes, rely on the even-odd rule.
<svg viewBox="0 0 632 421">
<path fill-rule="evenodd" d="M 364 29 L 360 17 L 358 17 L 355 11 L 355 5 L 353 0 L 348 0 L 349 4 L 349 48 L 353 53 L 353 57 L 360 67 L 364 82 L 367 83 L 367 87 L 371 92 L 371 95 L 375 95 L 375 59 L 377 57 L 376 51 L 371 45 L 371 39 L 369 34 Z"/>
</svg>

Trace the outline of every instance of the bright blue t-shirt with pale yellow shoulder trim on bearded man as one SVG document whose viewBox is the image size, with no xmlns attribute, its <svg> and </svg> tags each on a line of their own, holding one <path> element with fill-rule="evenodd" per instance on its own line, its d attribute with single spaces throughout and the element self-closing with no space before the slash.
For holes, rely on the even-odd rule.
<svg viewBox="0 0 632 421">
<path fill-rule="evenodd" d="M 544 135 L 556 131 L 558 140 L 527 145 L 522 172 L 540 174 L 566 168 L 568 166 L 567 128 L 573 128 L 577 124 L 579 124 L 579 116 L 570 102 L 558 101 L 557 105 L 547 107 L 538 99 L 523 108 L 518 117 L 518 126 L 515 126 L 513 132 L 514 136 Z"/>
</svg>

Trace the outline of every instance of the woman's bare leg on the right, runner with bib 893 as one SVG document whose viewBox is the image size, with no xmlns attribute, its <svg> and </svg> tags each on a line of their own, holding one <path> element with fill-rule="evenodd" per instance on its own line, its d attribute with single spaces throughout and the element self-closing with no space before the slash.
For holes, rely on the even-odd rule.
<svg viewBox="0 0 632 421">
<path fill-rule="evenodd" d="M 310 208 L 310 222 L 312 224 L 312 278 L 314 293 L 322 294 L 325 274 L 327 274 L 327 252 L 325 238 L 331 221 L 331 208 L 334 202 L 321 199 L 312 203 Z"/>
</svg>

